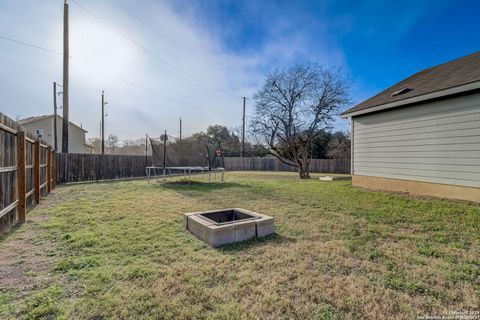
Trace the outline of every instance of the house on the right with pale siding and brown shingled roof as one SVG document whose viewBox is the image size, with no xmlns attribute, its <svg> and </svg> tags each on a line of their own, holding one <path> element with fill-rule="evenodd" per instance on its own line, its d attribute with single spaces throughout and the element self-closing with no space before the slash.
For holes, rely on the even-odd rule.
<svg viewBox="0 0 480 320">
<path fill-rule="evenodd" d="M 425 69 L 345 111 L 352 184 L 480 202 L 480 52 Z"/>
</svg>

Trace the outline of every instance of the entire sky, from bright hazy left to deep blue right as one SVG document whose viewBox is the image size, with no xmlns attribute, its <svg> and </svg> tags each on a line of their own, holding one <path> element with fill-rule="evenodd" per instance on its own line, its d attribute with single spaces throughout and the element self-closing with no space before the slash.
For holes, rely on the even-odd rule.
<svg viewBox="0 0 480 320">
<path fill-rule="evenodd" d="M 70 1 L 71 119 L 91 137 L 99 132 L 102 89 L 107 134 L 176 135 L 179 117 L 189 134 L 215 123 L 239 127 L 240 97 L 252 97 L 275 68 L 341 67 L 354 104 L 480 48 L 480 1 L 76 2 L 113 28 Z M 0 36 L 61 51 L 62 8 L 63 0 L 0 0 Z M 0 70 L 1 112 L 52 112 L 60 55 L 0 39 Z"/>
</svg>

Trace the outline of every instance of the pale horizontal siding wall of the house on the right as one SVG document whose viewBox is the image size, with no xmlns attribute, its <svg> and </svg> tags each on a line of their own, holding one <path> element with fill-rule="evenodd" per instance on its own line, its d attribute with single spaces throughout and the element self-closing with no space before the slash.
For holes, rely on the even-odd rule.
<svg viewBox="0 0 480 320">
<path fill-rule="evenodd" d="M 356 175 L 480 187 L 480 94 L 353 117 Z"/>
</svg>

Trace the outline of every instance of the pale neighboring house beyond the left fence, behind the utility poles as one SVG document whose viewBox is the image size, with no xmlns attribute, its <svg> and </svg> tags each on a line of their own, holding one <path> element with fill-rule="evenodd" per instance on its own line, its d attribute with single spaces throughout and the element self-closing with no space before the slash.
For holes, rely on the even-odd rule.
<svg viewBox="0 0 480 320">
<path fill-rule="evenodd" d="M 31 133 L 41 137 L 48 144 L 54 146 L 53 141 L 53 115 L 30 117 L 18 121 Z M 63 118 L 57 115 L 57 152 L 62 150 L 62 124 Z M 76 124 L 69 122 L 68 125 L 68 152 L 69 153 L 91 153 L 91 146 L 85 143 L 87 131 Z"/>
</svg>

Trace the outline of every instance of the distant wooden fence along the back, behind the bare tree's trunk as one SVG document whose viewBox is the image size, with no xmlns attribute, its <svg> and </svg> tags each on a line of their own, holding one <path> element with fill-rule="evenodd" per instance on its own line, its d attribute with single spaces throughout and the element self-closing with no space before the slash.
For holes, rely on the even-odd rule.
<svg viewBox="0 0 480 320">
<path fill-rule="evenodd" d="M 224 158 L 225 170 L 297 171 L 275 158 L 228 157 Z M 350 173 L 350 159 L 312 159 L 310 172 Z"/>
</svg>

